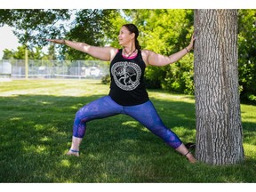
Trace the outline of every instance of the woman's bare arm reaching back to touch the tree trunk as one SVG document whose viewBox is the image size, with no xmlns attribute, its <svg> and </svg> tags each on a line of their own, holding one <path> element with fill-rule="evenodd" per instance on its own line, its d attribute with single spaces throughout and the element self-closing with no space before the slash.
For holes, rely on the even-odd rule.
<svg viewBox="0 0 256 192">
<path fill-rule="evenodd" d="M 147 65 L 152 65 L 152 66 L 165 66 L 172 64 L 178 60 L 180 60 L 182 57 L 184 57 L 191 49 L 193 49 L 193 45 L 195 42 L 196 38 L 192 36 L 190 44 L 180 52 L 175 52 L 170 56 L 164 56 L 161 54 L 157 54 L 156 52 L 144 50 L 143 51 L 143 59 L 146 61 Z"/>
</svg>

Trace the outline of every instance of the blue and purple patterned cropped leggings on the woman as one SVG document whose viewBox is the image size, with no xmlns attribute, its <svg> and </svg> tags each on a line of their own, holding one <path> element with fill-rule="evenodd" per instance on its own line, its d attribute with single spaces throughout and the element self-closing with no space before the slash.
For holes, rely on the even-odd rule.
<svg viewBox="0 0 256 192">
<path fill-rule="evenodd" d="M 110 96 L 94 100 L 77 111 L 73 126 L 73 136 L 77 138 L 84 137 L 86 122 L 118 114 L 132 116 L 172 148 L 178 148 L 182 143 L 174 132 L 165 127 L 150 100 L 136 106 L 121 106 L 112 100 Z"/>
</svg>

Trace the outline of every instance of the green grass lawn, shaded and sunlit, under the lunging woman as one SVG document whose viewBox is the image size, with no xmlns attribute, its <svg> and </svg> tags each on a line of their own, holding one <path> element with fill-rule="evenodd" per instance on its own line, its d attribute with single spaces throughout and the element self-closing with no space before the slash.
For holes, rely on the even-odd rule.
<svg viewBox="0 0 256 192">
<path fill-rule="evenodd" d="M 76 111 L 108 94 L 90 80 L 0 83 L 0 182 L 236 183 L 256 181 L 256 107 L 242 105 L 243 164 L 188 164 L 129 116 L 88 123 L 81 156 L 65 156 Z M 195 100 L 149 91 L 164 123 L 195 142 Z"/>
</svg>

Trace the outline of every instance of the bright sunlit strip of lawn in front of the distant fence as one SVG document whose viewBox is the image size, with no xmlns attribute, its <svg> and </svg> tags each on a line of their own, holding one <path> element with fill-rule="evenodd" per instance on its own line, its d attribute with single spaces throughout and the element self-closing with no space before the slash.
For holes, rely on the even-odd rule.
<svg viewBox="0 0 256 192">
<path fill-rule="evenodd" d="M 10 86 L 9 84 L 12 84 Z M 95 86 L 94 86 L 95 85 Z M 97 89 L 95 87 L 97 86 Z M 100 80 L 14 80 L 0 87 L 0 96 L 53 95 L 81 97 L 85 95 L 108 94 L 109 86 Z"/>
</svg>

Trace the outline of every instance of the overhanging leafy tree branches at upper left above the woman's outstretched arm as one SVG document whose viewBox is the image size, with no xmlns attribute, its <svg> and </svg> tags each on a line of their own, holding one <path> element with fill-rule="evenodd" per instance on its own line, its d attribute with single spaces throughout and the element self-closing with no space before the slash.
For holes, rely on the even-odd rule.
<svg viewBox="0 0 256 192">
<path fill-rule="evenodd" d="M 106 31 L 112 30 L 110 19 L 118 19 L 118 10 L 0 10 L 0 27 L 4 24 L 14 27 L 20 44 L 29 50 L 48 44 L 46 39 L 67 38 L 87 42 L 92 45 L 105 45 L 108 42 Z M 74 16 L 74 17 L 73 17 Z M 57 46 L 60 59 L 81 60 L 88 55 Z"/>
</svg>

